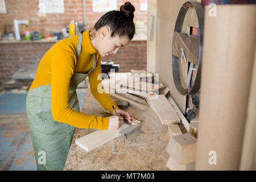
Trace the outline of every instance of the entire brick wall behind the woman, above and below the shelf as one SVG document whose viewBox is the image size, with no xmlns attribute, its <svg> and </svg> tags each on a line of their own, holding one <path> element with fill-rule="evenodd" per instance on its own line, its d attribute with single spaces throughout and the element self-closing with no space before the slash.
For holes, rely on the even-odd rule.
<svg viewBox="0 0 256 182">
<path fill-rule="evenodd" d="M 126 1 L 117 1 L 118 9 Z M 147 12 L 139 11 L 139 0 L 130 0 L 135 6 L 134 21 L 146 22 Z M 6 30 L 13 31 L 13 19 L 30 19 L 31 31 L 38 30 L 40 35 L 51 35 L 60 31 L 71 20 L 83 22 L 82 0 L 64 0 L 64 14 L 46 14 L 38 16 L 38 0 L 5 0 L 7 14 L 0 14 L 0 21 L 6 24 Z M 86 28 L 90 29 L 104 13 L 92 12 L 92 0 L 86 0 Z M 145 24 L 146 27 L 146 24 Z M 10 80 L 19 68 L 36 69 L 44 53 L 53 43 L 11 43 L 0 44 L 0 86 Z M 133 41 L 120 49 L 117 55 L 104 57 L 120 64 L 119 72 L 130 69 L 146 69 L 146 41 Z"/>
</svg>

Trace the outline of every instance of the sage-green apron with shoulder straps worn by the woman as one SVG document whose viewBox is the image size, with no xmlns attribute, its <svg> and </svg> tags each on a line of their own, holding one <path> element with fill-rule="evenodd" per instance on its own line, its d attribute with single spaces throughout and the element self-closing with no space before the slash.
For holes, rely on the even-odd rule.
<svg viewBox="0 0 256 182">
<path fill-rule="evenodd" d="M 79 60 L 82 31 L 79 32 L 76 55 Z M 94 54 L 93 68 L 88 73 L 74 73 L 69 85 L 69 107 L 80 111 L 76 88 L 96 67 Z M 27 93 L 26 111 L 28 125 L 35 152 L 38 170 L 63 170 L 75 127 L 54 121 L 51 110 L 51 85 L 39 86 Z"/>
</svg>

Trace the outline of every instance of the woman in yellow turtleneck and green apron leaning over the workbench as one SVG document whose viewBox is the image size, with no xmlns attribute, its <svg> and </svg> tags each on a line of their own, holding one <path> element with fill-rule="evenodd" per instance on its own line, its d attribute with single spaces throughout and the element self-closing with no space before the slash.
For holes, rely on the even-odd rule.
<svg viewBox="0 0 256 182">
<path fill-rule="evenodd" d="M 101 81 L 97 77 L 101 74 L 101 56 L 117 53 L 133 38 L 134 11 L 134 6 L 126 2 L 120 11 L 103 15 L 92 31 L 60 40 L 43 56 L 26 100 L 38 170 L 64 169 L 75 127 L 111 130 L 122 125 L 123 117 L 133 120 L 108 94 L 98 92 Z M 80 113 L 76 88 L 86 76 L 92 95 L 113 116 Z"/>
</svg>

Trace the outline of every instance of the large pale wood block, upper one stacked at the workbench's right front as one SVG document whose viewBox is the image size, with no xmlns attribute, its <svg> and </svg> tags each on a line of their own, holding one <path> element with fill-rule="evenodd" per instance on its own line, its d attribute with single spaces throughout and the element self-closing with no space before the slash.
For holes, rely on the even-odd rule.
<svg viewBox="0 0 256 182">
<path fill-rule="evenodd" d="M 189 133 L 171 137 L 166 147 L 166 151 L 179 164 L 195 162 L 196 138 Z"/>
</svg>

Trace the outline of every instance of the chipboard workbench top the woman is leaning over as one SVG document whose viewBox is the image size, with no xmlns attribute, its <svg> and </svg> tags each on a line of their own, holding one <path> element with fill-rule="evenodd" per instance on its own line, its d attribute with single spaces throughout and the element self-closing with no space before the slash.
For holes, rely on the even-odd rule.
<svg viewBox="0 0 256 182">
<path fill-rule="evenodd" d="M 169 170 L 166 167 L 168 126 L 162 125 L 149 105 L 143 111 L 131 106 L 123 110 L 141 121 L 143 132 L 136 130 L 127 138 L 120 136 L 87 152 L 75 140 L 96 130 L 76 128 L 64 170 Z M 105 117 L 102 111 L 106 110 L 86 90 L 81 112 Z"/>
</svg>

